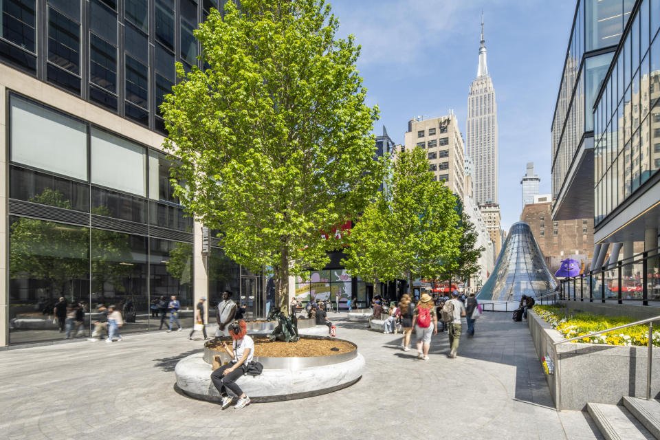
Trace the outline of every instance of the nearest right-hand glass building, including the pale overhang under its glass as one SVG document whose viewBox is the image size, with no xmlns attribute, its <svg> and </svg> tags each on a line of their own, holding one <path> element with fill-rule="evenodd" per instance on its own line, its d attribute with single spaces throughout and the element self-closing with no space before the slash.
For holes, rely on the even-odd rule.
<svg viewBox="0 0 660 440">
<path fill-rule="evenodd" d="M 658 247 L 659 28 L 660 1 L 636 1 L 595 99 L 597 243 L 644 241 L 647 251 Z"/>
</svg>

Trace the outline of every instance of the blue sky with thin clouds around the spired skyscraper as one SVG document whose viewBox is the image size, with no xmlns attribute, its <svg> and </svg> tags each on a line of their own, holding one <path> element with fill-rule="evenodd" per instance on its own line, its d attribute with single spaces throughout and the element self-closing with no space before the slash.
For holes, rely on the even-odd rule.
<svg viewBox="0 0 660 440">
<path fill-rule="evenodd" d="M 551 192 L 555 103 L 575 0 L 329 0 L 339 37 L 362 46 L 358 69 L 367 104 L 380 108 L 374 132 L 404 142 L 408 120 L 454 111 L 465 140 L 467 96 L 484 38 L 498 111 L 502 228 L 520 219 L 527 162 Z"/>
</svg>

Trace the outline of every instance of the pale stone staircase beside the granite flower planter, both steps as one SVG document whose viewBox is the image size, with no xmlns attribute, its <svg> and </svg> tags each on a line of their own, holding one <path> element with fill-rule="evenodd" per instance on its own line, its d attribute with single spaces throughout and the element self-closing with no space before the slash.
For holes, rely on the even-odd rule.
<svg viewBox="0 0 660 440">
<path fill-rule="evenodd" d="M 623 406 L 586 404 L 606 440 L 660 440 L 660 401 L 624 397 Z"/>
</svg>

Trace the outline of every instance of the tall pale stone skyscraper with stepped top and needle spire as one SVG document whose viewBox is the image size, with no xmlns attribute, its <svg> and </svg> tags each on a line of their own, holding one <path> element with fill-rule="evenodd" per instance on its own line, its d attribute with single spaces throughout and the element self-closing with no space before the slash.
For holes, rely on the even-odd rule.
<svg viewBox="0 0 660 440">
<path fill-rule="evenodd" d="M 481 16 L 481 46 L 476 79 L 467 98 L 467 155 L 474 161 L 476 202 L 497 203 L 497 105 L 486 65 L 486 46 Z"/>
</svg>

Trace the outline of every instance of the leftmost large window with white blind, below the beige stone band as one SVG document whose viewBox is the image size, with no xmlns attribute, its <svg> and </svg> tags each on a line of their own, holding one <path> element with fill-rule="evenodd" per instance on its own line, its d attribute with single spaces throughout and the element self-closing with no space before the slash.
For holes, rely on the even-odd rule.
<svg viewBox="0 0 660 440">
<path fill-rule="evenodd" d="M 13 162 L 87 179 L 87 127 L 83 122 L 16 96 L 10 98 L 10 105 Z"/>
</svg>

